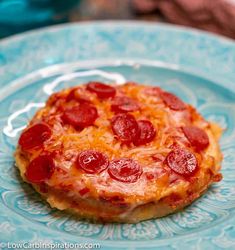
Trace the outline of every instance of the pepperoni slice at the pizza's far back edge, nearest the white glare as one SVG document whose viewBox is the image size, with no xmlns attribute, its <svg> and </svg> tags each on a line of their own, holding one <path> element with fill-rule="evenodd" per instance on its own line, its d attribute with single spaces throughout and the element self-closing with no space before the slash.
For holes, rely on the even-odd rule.
<svg viewBox="0 0 235 250">
<path fill-rule="evenodd" d="M 96 93 L 101 99 L 114 97 L 116 95 L 115 88 L 101 82 L 89 82 L 87 84 L 87 90 Z"/>
</svg>

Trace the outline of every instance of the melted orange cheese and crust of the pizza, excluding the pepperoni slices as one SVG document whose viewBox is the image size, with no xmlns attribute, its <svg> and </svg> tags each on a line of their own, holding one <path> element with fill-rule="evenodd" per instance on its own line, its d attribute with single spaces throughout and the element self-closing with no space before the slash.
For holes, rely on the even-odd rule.
<svg viewBox="0 0 235 250">
<path fill-rule="evenodd" d="M 158 87 L 126 83 L 114 86 L 116 96 L 128 96 L 139 109 L 129 112 L 136 120 L 147 119 L 156 128 L 155 138 L 144 145 L 123 143 L 113 134 L 111 119 L 112 98 L 100 99 L 88 91 L 86 85 L 62 90 L 53 94 L 45 107 L 30 121 L 50 126 L 52 136 L 43 146 L 23 150 L 18 145 L 16 165 L 22 178 L 33 185 L 51 207 L 69 210 L 82 218 L 104 222 L 136 223 L 162 217 L 175 212 L 197 199 L 211 183 L 219 181 L 222 154 L 218 140 L 221 128 L 207 122 L 191 105 L 183 110 L 169 108 L 161 99 Z M 76 90 L 74 98 L 68 98 Z M 81 98 L 97 108 L 98 117 L 93 125 L 78 129 L 61 118 L 64 109 L 77 105 Z M 183 126 L 197 126 L 206 132 L 209 145 L 198 151 L 185 134 Z M 191 176 L 180 175 L 166 164 L 166 157 L 175 145 L 187 149 L 197 159 L 198 170 Z M 78 154 L 84 150 L 104 153 L 111 161 L 130 158 L 142 167 L 142 174 L 132 183 L 118 181 L 107 169 L 100 173 L 87 173 L 76 166 Z M 40 183 L 26 178 L 30 162 L 43 152 L 53 154 L 55 170 L 52 176 Z"/>
</svg>

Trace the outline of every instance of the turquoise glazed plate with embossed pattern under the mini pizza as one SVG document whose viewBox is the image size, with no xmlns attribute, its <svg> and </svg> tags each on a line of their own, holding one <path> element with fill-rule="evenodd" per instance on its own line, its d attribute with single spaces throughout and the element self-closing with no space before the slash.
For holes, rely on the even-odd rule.
<svg viewBox="0 0 235 250">
<path fill-rule="evenodd" d="M 51 209 L 14 167 L 17 138 L 52 92 L 89 80 L 161 87 L 224 129 L 223 181 L 181 212 L 133 224 L 92 224 Z M 62 25 L 0 44 L 0 242 L 101 249 L 235 248 L 235 44 L 143 22 Z M 4 245 L 5 244 L 5 245 Z M 78 245 L 77 245 L 78 246 Z M 84 246 L 84 245 L 83 245 Z M 88 246 L 88 245 L 86 245 Z M 35 246 L 33 248 L 36 248 Z"/>
</svg>

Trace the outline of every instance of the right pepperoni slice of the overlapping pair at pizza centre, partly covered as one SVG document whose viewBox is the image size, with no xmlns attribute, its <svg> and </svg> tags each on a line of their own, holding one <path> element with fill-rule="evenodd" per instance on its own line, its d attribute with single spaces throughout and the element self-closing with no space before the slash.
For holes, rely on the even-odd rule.
<svg viewBox="0 0 235 250">
<path fill-rule="evenodd" d="M 134 144 L 139 146 L 151 142 L 156 136 L 156 129 L 154 128 L 153 124 L 148 120 L 139 120 L 138 126 L 140 130 L 140 136 L 136 141 L 134 141 Z"/>
</svg>

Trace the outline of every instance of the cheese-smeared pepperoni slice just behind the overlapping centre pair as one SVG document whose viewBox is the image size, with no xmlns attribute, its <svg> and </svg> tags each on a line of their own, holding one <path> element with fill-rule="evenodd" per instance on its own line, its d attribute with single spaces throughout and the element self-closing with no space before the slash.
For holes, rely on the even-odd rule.
<svg viewBox="0 0 235 250">
<path fill-rule="evenodd" d="M 127 96 L 115 97 L 111 105 L 111 110 L 115 113 L 133 112 L 139 108 L 139 104 Z"/>
</svg>

